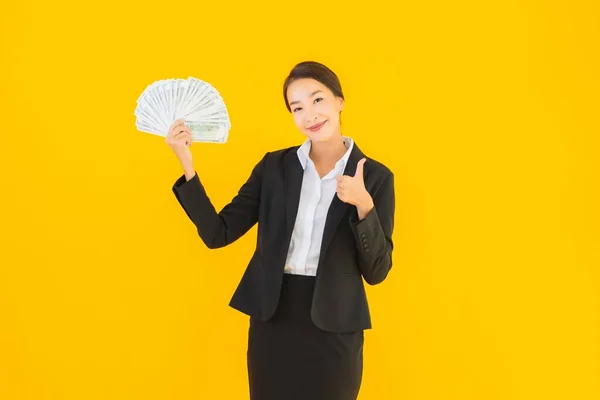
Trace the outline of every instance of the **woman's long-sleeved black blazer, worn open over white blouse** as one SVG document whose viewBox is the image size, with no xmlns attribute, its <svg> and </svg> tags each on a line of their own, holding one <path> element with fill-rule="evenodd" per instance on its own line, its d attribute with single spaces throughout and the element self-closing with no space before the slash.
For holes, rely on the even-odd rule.
<svg viewBox="0 0 600 400">
<path fill-rule="evenodd" d="M 277 307 L 304 170 L 293 146 L 268 152 L 256 164 L 232 201 L 217 212 L 196 173 L 185 174 L 173 192 L 198 234 L 211 249 L 226 246 L 258 222 L 256 249 L 229 303 L 232 308 L 268 320 Z M 356 143 L 344 170 L 354 175 L 365 155 Z M 367 157 L 365 187 L 375 207 L 358 221 L 356 207 L 334 195 L 323 232 L 311 317 L 321 329 L 352 332 L 371 329 L 363 284 L 382 282 L 392 267 L 394 175 Z"/>
</svg>

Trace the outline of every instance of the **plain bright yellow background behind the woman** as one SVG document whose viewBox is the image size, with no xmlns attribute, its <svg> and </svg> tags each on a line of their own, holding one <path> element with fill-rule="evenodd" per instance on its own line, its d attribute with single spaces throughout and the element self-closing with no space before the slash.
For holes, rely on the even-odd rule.
<svg viewBox="0 0 600 400">
<path fill-rule="evenodd" d="M 304 140 L 303 60 L 396 176 L 360 399 L 600 398 L 598 4 L 2 0 L 0 399 L 247 398 L 227 304 L 256 231 L 206 249 L 133 111 L 158 79 L 217 87 L 229 142 L 192 151 L 220 208 Z"/>
</svg>

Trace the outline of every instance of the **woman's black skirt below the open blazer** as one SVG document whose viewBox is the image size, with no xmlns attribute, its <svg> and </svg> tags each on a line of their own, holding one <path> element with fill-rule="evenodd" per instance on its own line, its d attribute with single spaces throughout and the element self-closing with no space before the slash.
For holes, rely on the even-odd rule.
<svg viewBox="0 0 600 400">
<path fill-rule="evenodd" d="M 317 327 L 310 318 L 315 277 L 283 276 L 272 319 L 250 318 L 250 399 L 356 400 L 364 332 L 334 333 Z"/>
</svg>

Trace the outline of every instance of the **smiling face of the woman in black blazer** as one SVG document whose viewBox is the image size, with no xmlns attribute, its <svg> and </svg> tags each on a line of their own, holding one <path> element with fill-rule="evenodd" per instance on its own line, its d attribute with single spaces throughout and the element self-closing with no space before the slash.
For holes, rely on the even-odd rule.
<svg viewBox="0 0 600 400">
<path fill-rule="evenodd" d="M 288 86 L 287 100 L 296 126 L 306 137 L 321 142 L 339 135 L 344 100 L 327 86 L 312 78 L 297 79 Z M 315 125 L 316 130 L 311 129 Z"/>
</svg>

